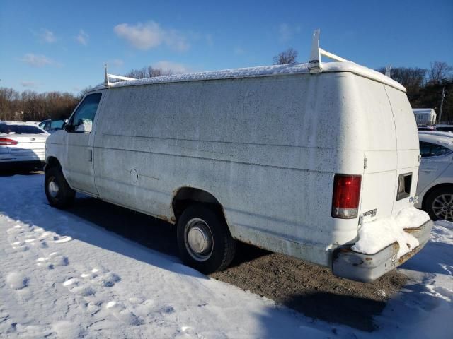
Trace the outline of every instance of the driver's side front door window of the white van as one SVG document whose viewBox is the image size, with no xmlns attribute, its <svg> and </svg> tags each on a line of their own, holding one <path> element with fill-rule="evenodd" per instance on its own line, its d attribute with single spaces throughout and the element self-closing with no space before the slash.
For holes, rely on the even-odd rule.
<svg viewBox="0 0 453 339">
<path fill-rule="evenodd" d="M 101 93 L 87 95 L 83 102 L 77 107 L 71 121 L 69 130 L 71 132 L 91 133 L 93 128 L 94 116 L 101 101 Z"/>
</svg>

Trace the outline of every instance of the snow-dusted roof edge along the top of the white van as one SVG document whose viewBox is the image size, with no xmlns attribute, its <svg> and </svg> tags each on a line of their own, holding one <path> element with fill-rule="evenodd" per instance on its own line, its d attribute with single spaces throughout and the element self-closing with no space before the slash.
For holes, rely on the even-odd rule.
<svg viewBox="0 0 453 339">
<path fill-rule="evenodd" d="M 205 80 L 218 80 L 228 78 L 256 78 L 260 76 L 285 76 L 289 74 L 302 74 L 309 73 L 309 64 L 288 64 L 288 65 L 272 65 L 272 66 L 258 66 L 247 67 L 243 69 L 224 69 L 222 71 L 207 71 L 187 74 L 175 74 L 173 76 L 157 76 L 154 78 L 143 78 L 130 81 L 117 81 L 110 83 L 109 87 L 123 87 L 134 85 L 149 85 L 154 83 L 177 83 L 183 81 L 205 81 Z M 368 69 L 365 66 L 360 66 L 354 62 L 326 62 L 323 63 L 321 73 L 326 72 L 350 72 L 358 76 L 363 76 L 374 81 L 379 81 L 398 90 L 406 92 L 406 88 L 400 83 L 384 76 L 384 74 Z M 104 84 L 98 85 L 94 90 L 108 88 Z M 91 91 L 90 91 L 91 92 Z"/>
</svg>

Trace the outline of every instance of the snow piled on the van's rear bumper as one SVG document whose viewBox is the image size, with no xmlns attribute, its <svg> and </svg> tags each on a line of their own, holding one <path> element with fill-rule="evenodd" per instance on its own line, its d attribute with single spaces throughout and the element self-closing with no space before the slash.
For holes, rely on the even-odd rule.
<svg viewBox="0 0 453 339">
<path fill-rule="evenodd" d="M 353 251 L 363 254 L 375 254 L 386 246 L 398 242 L 397 257 L 410 252 L 418 246 L 418 239 L 404 232 L 406 228 L 415 228 L 430 220 L 428 213 L 414 207 L 403 208 L 397 215 L 364 222 L 359 230 L 359 240 L 352 246 Z"/>
</svg>

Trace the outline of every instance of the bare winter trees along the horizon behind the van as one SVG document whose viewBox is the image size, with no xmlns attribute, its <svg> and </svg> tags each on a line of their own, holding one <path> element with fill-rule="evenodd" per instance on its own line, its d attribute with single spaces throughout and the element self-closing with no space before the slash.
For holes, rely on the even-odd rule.
<svg viewBox="0 0 453 339">
<path fill-rule="evenodd" d="M 274 64 L 297 62 L 297 51 L 289 48 L 277 54 Z M 377 69 L 385 73 L 386 68 Z M 152 66 L 132 69 L 125 76 L 130 78 L 151 78 L 166 76 L 172 71 L 163 71 Z M 439 114 L 442 90 L 445 97 L 442 104 L 442 121 L 453 123 L 453 67 L 445 62 L 435 61 L 429 69 L 418 67 L 393 67 L 390 77 L 406 87 L 409 102 L 413 108 L 433 108 Z M 13 88 L 0 88 L 0 120 L 42 121 L 45 119 L 67 119 L 81 97 L 90 90 L 88 86 L 77 95 L 72 93 L 32 90 L 18 92 Z"/>
</svg>

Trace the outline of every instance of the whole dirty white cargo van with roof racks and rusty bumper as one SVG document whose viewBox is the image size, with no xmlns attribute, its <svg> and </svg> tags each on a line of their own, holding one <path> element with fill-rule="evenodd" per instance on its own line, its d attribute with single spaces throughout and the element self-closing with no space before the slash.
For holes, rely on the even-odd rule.
<svg viewBox="0 0 453 339">
<path fill-rule="evenodd" d="M 413 207 L 415 119 L 403 86 L 318 41 L 307 64 L 105 73 L 47 139 L 50 205 L 79 191 L 167 220 L 183 261 L 205 273 L 240 241 L 379 278 L 430 236 Z"/>
</svg>

